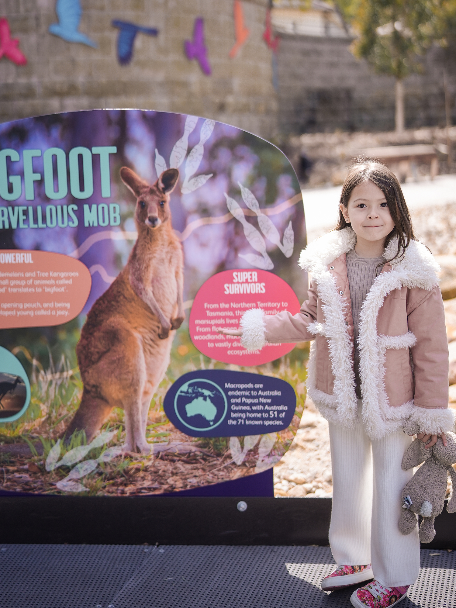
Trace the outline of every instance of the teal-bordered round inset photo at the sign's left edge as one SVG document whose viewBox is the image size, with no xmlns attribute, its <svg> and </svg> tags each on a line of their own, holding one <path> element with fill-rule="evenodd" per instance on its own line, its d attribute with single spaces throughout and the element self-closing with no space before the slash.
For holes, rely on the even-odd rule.
<svg viewBox="0 0 456 608">
<path fill-rule="evenodd" d="M 30 382 L 17 357 L 0 346 L 0 424 L 17 420 L 29 407 Z"/>
</svg>

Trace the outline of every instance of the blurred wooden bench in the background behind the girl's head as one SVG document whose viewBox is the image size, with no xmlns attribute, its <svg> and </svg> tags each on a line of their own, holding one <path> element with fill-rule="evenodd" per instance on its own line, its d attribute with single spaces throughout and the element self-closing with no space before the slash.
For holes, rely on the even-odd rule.
<svg viewBox="0 0 456 608">
<path fill-rule="evenodd" d="M 437 151 L 433 145 L 418 143 L 410 146 L 385 146 L 383 148 L 367 148 L 362 151 L 367 158 L 378 159 L 389 167 L 400 182 L 413 177 L 418 181 L 416 165 L 430 165 L 430 179 L 438 174 Z"/>
</svg>

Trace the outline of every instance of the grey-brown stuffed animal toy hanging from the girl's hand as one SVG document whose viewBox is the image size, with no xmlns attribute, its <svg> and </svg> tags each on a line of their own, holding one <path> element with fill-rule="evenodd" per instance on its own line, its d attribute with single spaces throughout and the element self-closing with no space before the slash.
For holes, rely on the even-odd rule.
<svg viewBox="0 0 456 608">
<path fill-rule="evenodd" d="M 418 424 L 412 421 L 407 421 L 403 429 L 407 435 L 420 432 Z M 404 471 L 421 465 L 424 461 L 402 490 L 403 504 L 399 518 L 401 533 L 410 534 L 416 526 L 416 515 L 423 517 L 420 525 L 421 542 L 430 542 L 435 536 L 434 519 L 443 511 L 447 472 L 451 475 L 452 492 L 446 510 L 448 513 L 456 511 L 456 471 L 451 466 L 456 462 L 456 435 L 446 433 L 446 439 L 446 447 L 441 437 L 438 437 L 437 443 L 427 449 L 423 441 L 415 439 L 402 458 Z"/>
</svg>

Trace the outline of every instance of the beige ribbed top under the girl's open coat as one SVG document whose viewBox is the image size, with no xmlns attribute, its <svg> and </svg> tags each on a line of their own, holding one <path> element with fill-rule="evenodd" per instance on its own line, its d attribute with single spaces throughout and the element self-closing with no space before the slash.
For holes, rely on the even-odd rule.
<svg viewBox="0 0 456 608">
<path fill-rule="evenodd" d="M 383 258 L 362 258 L 356 255 L 354 249 L 347 254 L 348 285 L 350 286 L 351 316 L 353 317 L 354 333 L 354 376 L 356 379 L 356 395 L 361 399 L 361 380 L 359 379 L 359 351 L 358 351 L 358 326 L 359 313 L 369 289 L 376 275 L 381 271 L 381 266 L 376 271 L 376 266 L 383 262 Z"/>
</svg>

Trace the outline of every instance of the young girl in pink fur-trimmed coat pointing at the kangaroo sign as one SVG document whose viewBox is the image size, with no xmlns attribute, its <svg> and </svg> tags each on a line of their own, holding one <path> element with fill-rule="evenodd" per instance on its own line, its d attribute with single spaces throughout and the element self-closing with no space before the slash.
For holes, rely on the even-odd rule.
<svg viewBox="0 0 456 608">
<path fill-rule="evenodd" d="M 380 608 L 404 599 L 420 566 L 418 531 L 398 528 L 402 471 L 420 425 L 427 447 L 451 430 L 448 348 L 437 263 L 415 240 L 395 175 L 374 161 L 350 169 L 332 232 L 300 257 L 311 272 L 308 300 L 298 314 L 247 311 L 241 331 L 248 350 L 266 342 L 314 340 L 309 397 L 329 421 L 333 466 L 330 545 L 337 568 L 326 591 L 353 584 L 351 603 Z"/>
</svg>

